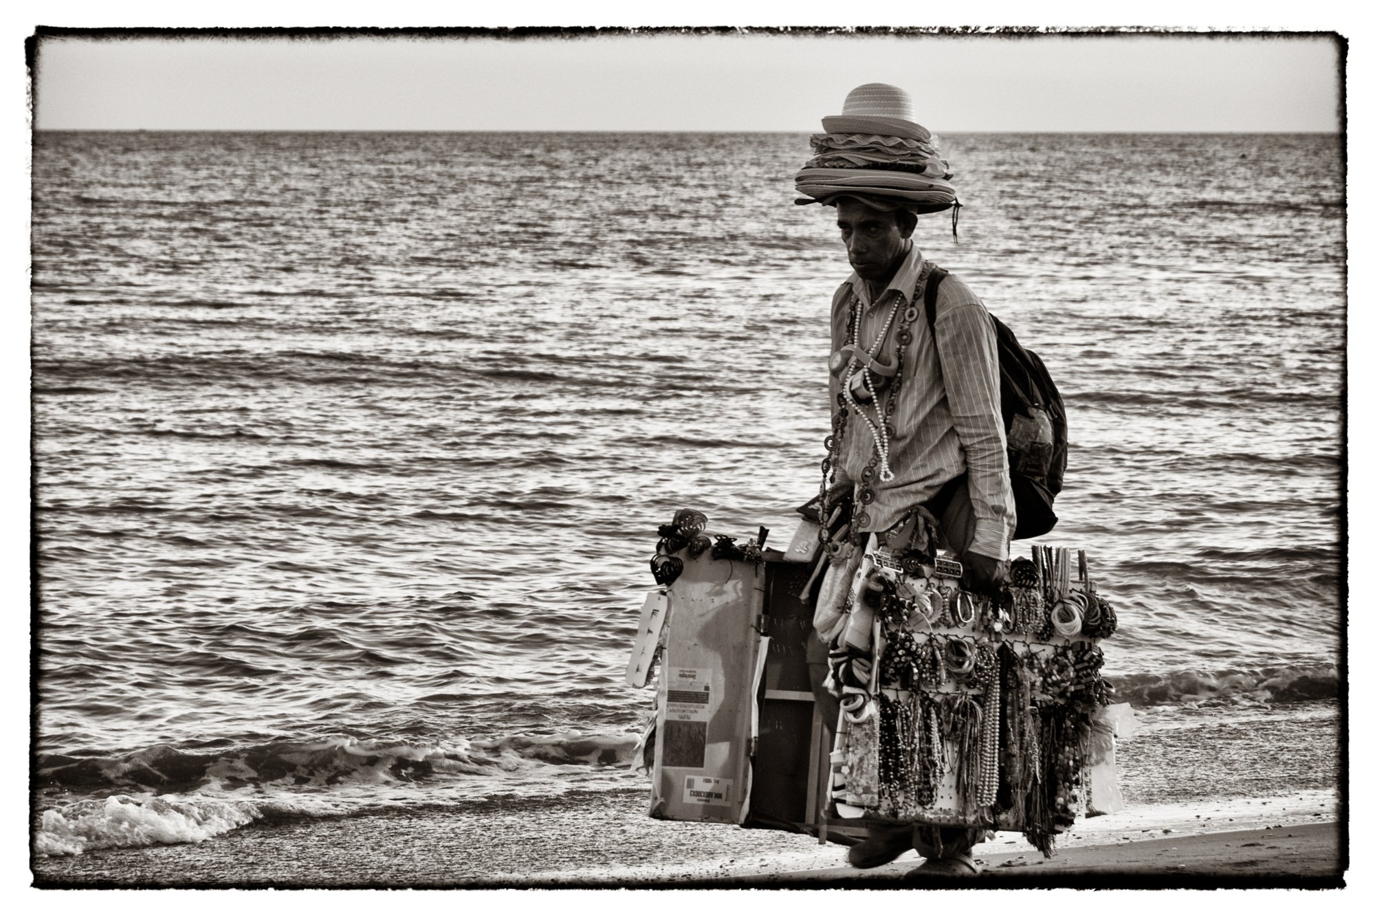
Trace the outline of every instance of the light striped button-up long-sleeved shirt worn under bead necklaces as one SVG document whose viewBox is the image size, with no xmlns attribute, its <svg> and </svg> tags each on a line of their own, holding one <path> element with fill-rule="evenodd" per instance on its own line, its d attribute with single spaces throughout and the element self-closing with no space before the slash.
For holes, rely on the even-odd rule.
<svg viewBox="0 0 1375 913">
<path fill-rule="evenodd" d="M 969 496 L 976 518 L 969 551 L 1006 560 L 1008 543 L 1016 528 L 1016 506 L 1008 480 L 1006 436 L 998 393 L 998 346 L 993 322 L 983 302 L 957 276 L 949 275 L 936 294 L 936 341 L 931 338 L 923 296 L 928 263 L 916 245 L 909 249 L 902 267 L 879 296 L 869 300 L 869 289 L 857 274 L 836 292 L 830 302 L 830 351 L 846 345 L 851 297 L 858 298 L 859 338 L 865 349 L 873 345 L 888 314 L 898 304 L 898 316 L 877 352 L 892 363 L 895 337 L 903 311 L 914 305 L 917 319 L 908 324 L 912 342 L 902 356 L 902 389 L 890 424 L 896 434 L 888 441 L 888 466 L 892 481 L 883 481 L 874 468 L 869 485 L 874 502 L 865 510 L 870 520 L 864 532 L 881 532 L 895 524 L 903 512 L 925 503 L 949 480 L 969 474 Z M 832 418 L 839 408 L 840 375 L 830 375 Z M 890 390 L 879 393 L 880 407 L 888 403 Z M 874 404 L 859 407 L 874 419 Z M 873 433 L 854 407 L 846 419 L 844 437 L 836 461 L 840 481 L 858 480 L 874 452 Z M 881 408 L 880 408 L 880 415 Z"/>
</svg>

